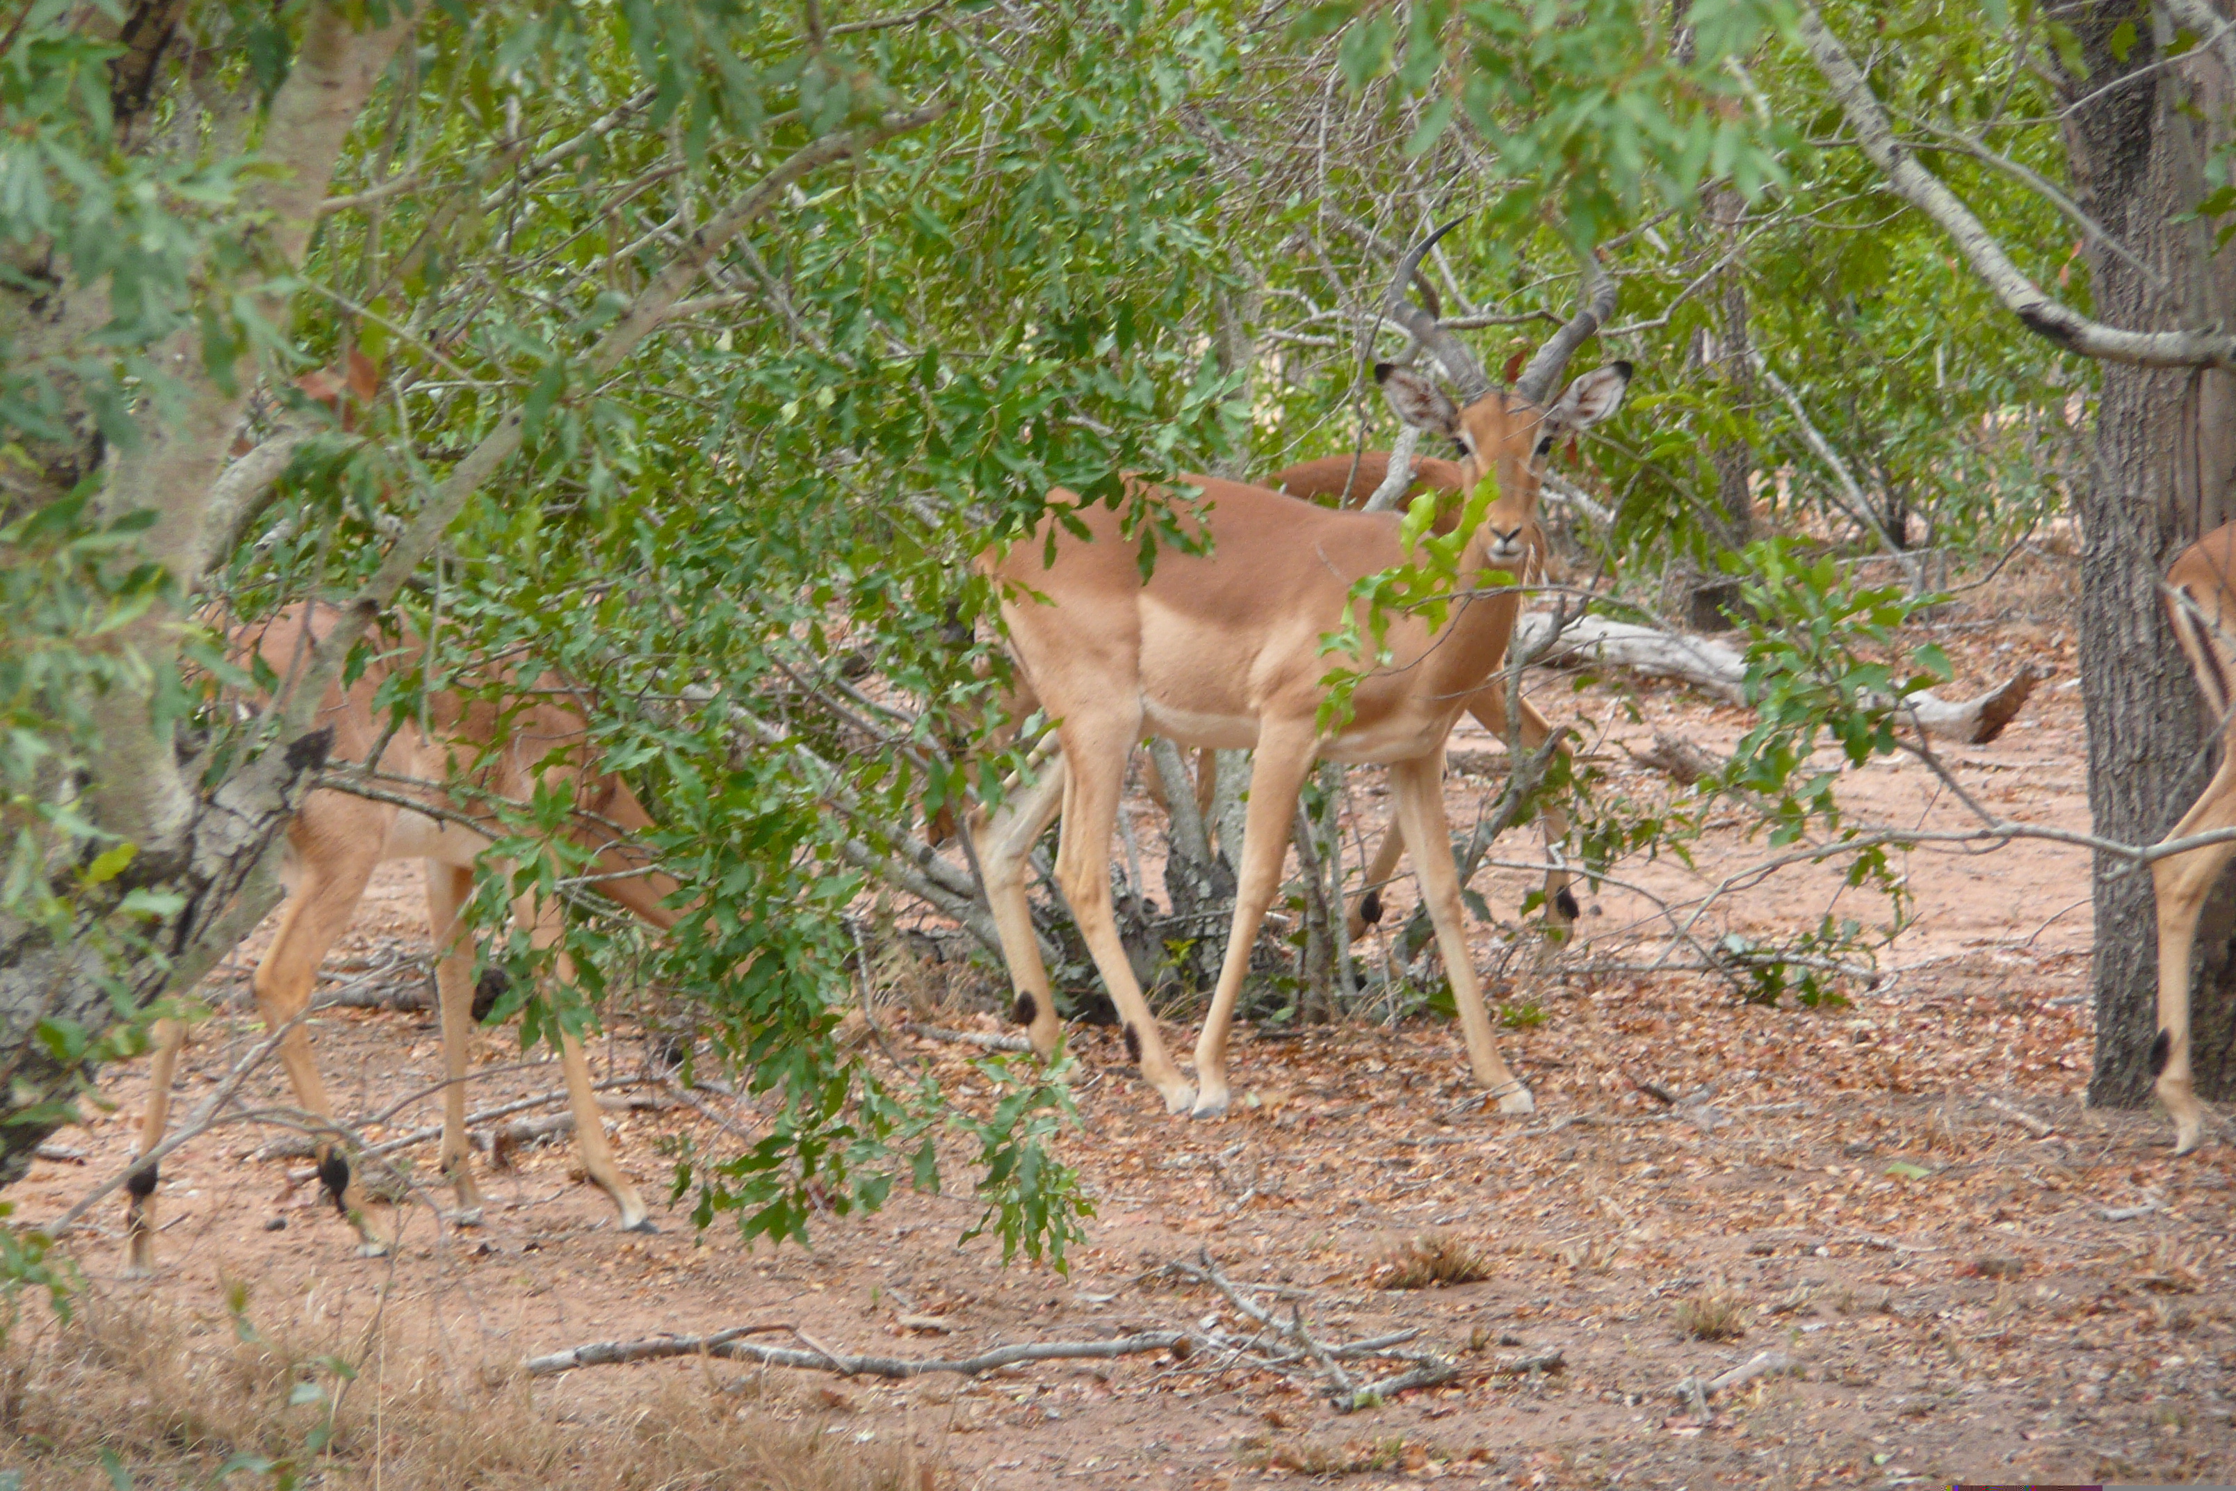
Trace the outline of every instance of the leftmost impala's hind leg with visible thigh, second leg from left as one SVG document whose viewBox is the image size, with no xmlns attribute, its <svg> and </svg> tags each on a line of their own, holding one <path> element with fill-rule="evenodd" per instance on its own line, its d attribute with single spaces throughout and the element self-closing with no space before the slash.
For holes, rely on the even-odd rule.
<svg viewBox="0 0 2236 1491">
<path fill-rule="evenodd" d="M 309 814 L 295 820 L 304 829 Z M 344 832 L 347 829 L 347 832 Z M 373 879 L 380 863 L 385 829 L 378 825 L 338 818 L 315 832 L 315 852 L 304 843 L 293 843 L 295 883 L 286 905 L 280 910 L 280 934 L 257 963 L 255 993 L 257 1013 L 266 1031 L 288 1033 L 280 1039 L 280 1066 L 286 1069 L 295 1102 L 311 1115 L 333 1122 L 333 1104 L 326 1100 L 326 1084 L 318 1075 L 318 1057 L 311 1053 L 311 1033 L 295 1019 L 311 1008 L 311 988 L 318 984 L 318 966 L 333 948 L 333 939 L 349 928 L 364 883 Z M 293 838 L 293 832 L 291 832 Z M 351 1171 L 349 1160 L 335 1147 L 333 1131 L 315 1138 L 318 1178 L 333 1198 L 333 1207 L 358 1232 L 358 1252 L 378 1259 L 396 1241 L 396 1214 L 376 1225 L 364 1196 L 364 1185 Z"/>
</svg>

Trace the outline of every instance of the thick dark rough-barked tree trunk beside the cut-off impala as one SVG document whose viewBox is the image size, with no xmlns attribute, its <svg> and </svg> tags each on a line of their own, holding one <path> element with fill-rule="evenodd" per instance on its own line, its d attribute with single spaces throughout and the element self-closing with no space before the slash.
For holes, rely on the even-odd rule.
<svg viewBox="0 0 2236 1491">
<path fill-rule="evenodd" d="M 2216 0 L 2216 9 L 2227 13 L 2229 0 Z M 2124 60 L 2111 47 L 2122 22 L 2138 31 Z M 2205 194 L 2205 163 L 2227 141 L 2236 98 L 2216 49 L 2196 47 L 2160 67 L 2171 31 L 2140 0 L 2102 0 L 2073 16 L 2073 25 L 2088 63 L 2088 76 L 2066 85 L 2068 96 L 2086 98 L 2066 121 L 2077 197 L 2106 232 L 2164 277 L 2144 277 L 2091 239 L 2097 317 L 2135 331 L 2229 324 L 2236 255 L 2214 257 L 2211 226 L 2182 221 Z M 2113 87 L 2131 74 L 2133 83 Z M 2151 843 L 2209 776 L 2202 704 L 2167 628 L 2158 586 L 2182 548 L 2236 516 L 2236 380 L 2122 362 L 2104 362 L 2102 376 L 2095 472 L 2077 494 L 2088 807 L 2097 834 Z M 2196 995 L 2202 1033 L 2225 1031 L 2236 1015 L 2232 932 L 2236 901 L 2216 896 L 2198 928 L 2198 948 L 2218 975 Z M 2100 854 L 2091 1102 L 2133 1107 L 2149 1098 L 2156 948 L 2151 876 Z M 2200 1062 L 2200 1095 L 2229 1095 L 2229 1077 L 2225 1062 Z"/>
</svg>

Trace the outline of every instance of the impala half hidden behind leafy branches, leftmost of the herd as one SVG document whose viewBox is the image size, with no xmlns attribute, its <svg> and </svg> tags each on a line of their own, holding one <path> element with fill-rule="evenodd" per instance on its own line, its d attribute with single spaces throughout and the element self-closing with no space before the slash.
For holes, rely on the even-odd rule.
<svg viewBox="0 0 2236 1491">
<path fill-rule="evenodd" d="M 288 677 L 315 644 L 315 628 L 331 610 L 293 606 L 259 626 L 235 646 L 246 664 L 262 655 L 275 675 Z M 427 695 L 427 709 L 416 720 L 389 729 L 387 711 L 373 709 L 382 680 L 418 668 L 420 646 L 402 644 L 376 659 L 347 693 L 331 691 L 320 709 L 320 724 L 333 726 L 333 760 L 364 762 L 376 771 L 373 785 L 389 798 L 420 803 L 425 811 L 398 800 L 373 800 L 338 789 L 313 791 L 288 825 L 282 874 L 288 899 L 280 910 L 280 932 L 273 937 L 255 972 L 257 1013 L 264 1028 L 282 1031 L 311 1004 L 318 966 L 340 937 L 364 896 L 364 885 L 382 861 L 423 858 L 427 863 L 427 925 L 436 948 L 436 1001 L 443 1022 L 443 1147 L 438 1167 L 458 1198 L 461 1223 L 479 1221 L 481 1191 L 467 1167 L 465 1140 L 465 1055 L 474 1026 L 474 946 L 458 912 L 465 908 L 481 852 L 503 829 L 485 807 L 490 798 L 530 800 L 557 794 L 575 803 L 575 827 L 568 836 L 597 854 L 597 890 L 635 912 L 644 923 L 669 930 L 678 912 L 669 910 L 675 881 L 651 870 L 646 854 L 628 838 L 651 827 L 644 805 L 617 776 L 590 767 L 588 731 L 581 715 L 552 702 L 519 702 L 496 706 L 463 700 L 456 693 Z M 378 762 L 371 760 L 380 753 Z M 445 791 L 454 767 L 472 782 L 472 791 Z M 487 825 L 483 829 L 481 825 Z M 503 874 L 510 865 L 490 865 Z M 559 941 L 561 914 L 550 901 L 532 905 L 530 896 L 514 903 L 514 914 L 532 928 L 537 948 Z M 561 981 L 572 981 L 572 963 L 557 955 Z M 157 1033 L 154 1064 L 148 1082 L 148 1115 L 141 1124 L 139 1153 L 163 1140 L 170 1120 L 170 1082 L 179 1060 L 186 1026 L 165 1022 Z M 333 1122 L 326 1084 L 318 1075 L 311 1035 L 295 1024 L 280 1042 L 280 1062 L 295 1102 L 320 1120 Z M 613 1160 L 597 1095 L 590 1091 L 590 1069 L 581 1042 L 559 1037 L 559 1064 L 566 1073 L 568 1102 L 575 1113 L 575 1142 L 588 1176 L 613 1198 L 624 1232 L 653 1232 L 651 1216 L 637 1189 Z M 360 1238 L 360 1252 L 378 1256 L 396 1238 L 396 1218 L 380 1225 L 364 1196 L 360 1178 L 335 1149 L 335 1131 L 318 1133 L 318 1178 L 333 1205 L 349 1218 Z M 154 1265 L 154 1187 L 157 1167 L 132 1171 L 125 1187 L 125 1234 L 130 1267 L 148 1272 Z"/>
</svg>

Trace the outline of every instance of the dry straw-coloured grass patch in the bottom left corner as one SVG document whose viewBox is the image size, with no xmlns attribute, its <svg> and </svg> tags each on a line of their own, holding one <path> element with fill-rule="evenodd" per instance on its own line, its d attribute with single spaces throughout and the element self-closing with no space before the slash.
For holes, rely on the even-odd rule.
<svg viewBox="0 0 2236 1491">
<path fill-rule="evenodd" d="M 626 1411 L 563 1413 L 508 1368 L 382 1350 L 362 1328 L 288 1339 L 239 1310 L 85 1299 L 0 1343 L 0 1464 L 25 1487 L 199 1487 L 233 1469 L 322 1487 L 476 1491 L 937 1491 L 910 1446 L 823 1433 L 713 1375 L 660 1375 Z M 546 1390 L 550 1397 L 550 1390 Z M 116 1480 L 119 1475 L 127 1480 Z"/>
</svg>

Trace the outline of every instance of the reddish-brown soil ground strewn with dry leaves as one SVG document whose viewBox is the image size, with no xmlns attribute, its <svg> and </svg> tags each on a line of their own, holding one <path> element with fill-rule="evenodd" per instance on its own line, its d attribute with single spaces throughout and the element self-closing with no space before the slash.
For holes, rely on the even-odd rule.
<svg viewBox="0 0 2236 1491">
<path fill-rule="evenodd" d="M 1995 811 L 2086 827 L 2079 706 L 2055 626 L 1952 633 L 1948 646 L 1965 671 L 1954 693 L 1997 682 L 2021 657 L 2057 666 L 2003 740 L 1945 753 L 1954 778 Z M 1538 700 L 1554 718 L 1623 713 L 1597 686 L 1576 700 L 1541 686 Z M 1740 711 L 1677 693 L 1639 709 L 1641 722 L 1605 726 L 1588 749 L 1648 803 L 1670 787 L 1630 767 L 1623 740 L 1643 747 L 1655 729 L 1677 729 L 1719 749 L 1744 729 Z M 1456 749 L 1494 747 L 1462 738 Z M 1375 818 L 1368 776 L 1357 798 Z M 1485 782 L 1458 780 L 1456 820 L 1482 794 Z M 1851 773 L 1842 803 L 1858 818 L 1959 820 L 1950 787 L 1916 762 Z M 1145 845 L 1158 838 L 1147 809 L 1140 827 Z M 1534 858 L 1527 845 L 1509 838 L 1505 858 L 1518 867 L 1478 879 L 1500 914 L 1534 883 L 1520 867 Z M 483 1227 L 438 1236 L 420 1209 L 400 1256 L 362 1261 L 315 1183 L 300 1180 L 304 1162 L 255 1160 L 271 1136 L 248 1129 L 219 1129 L 165 1162 L 163 1276 L 119 1276 L 121 1203 L 105 1203 L 103 1225 L 72 1247 L 98 1308 L 125 1319 L 183 1310 L 224 1335 L 228 1281 L 250 1285 L 250 1319 L 333 1341 L 371 1339 L 380 1312 L 387 1346 L 362 1368 L 373 1395 L 425 1395 L 436 1381 L 456 1411 L 532 1411 L 563 1435 L 626 1424 L 651 1404 L 673 1417 L 678 1393 L 738 1402 L 722 1388 L 767 1377 L 787 1386 L 762 1408 L 863 1446 L 908 1444 L 926 1475 L 937 1466 L 928 1484 L 1243 1487 L 1335 1473 L 1359 1487 L 2171 1482 L 2236 1462 L 2236 1165 L 2218 1136 L 2173 1160 L 2162 1118 L 2079 1102 L 2086 858 L 2044 843 L 1912 852 L 1916 923 L 1883 955 L 1889 977 L 1876 990 L 1845 984 L 1847 1008 L 1749 1006 L 1715 975 L 1626 972 L 1668 950 L 1646 892 L 1697 896 L 1762 854 L 1726 825 L 1699 847 L 1697 870 L 1668 856 L 1626 867 L 1639 890 L 1610 883 L 1585 896 L 1585 937 L 1561 952 L 1534 932 L 1482 930 L 1480 963 L 1518 1022 L 1500 1042 L 1538 1098 L 1529 1120 L 1471 1111 L 1458 1037 L 1433 1022 L 1243 1035 L 1239 1104 L 1214 1124 L 1167 1118 L 1109 1031 L 1076 1031 L 1084 1124 L 1062 1153 L 1098 1216 L 1069 1276 L 1004 1270 L 986 1238 L 957 1245 L 977 1209 L 953 1194 L 821 1218 L 812 1250 L 745 1247 L 720 1223 L 698 1234 L 680 1209 L 660 1216 L 657 1236 L 624 1238 L 606 1200 L 570 1178 L 563 1145 L 483 1171 Z M 416 867 L 382 872 L 335 966 L 389 939 L 423 941 L 416 881 Z M 1719 901 L 1704 925 L 1769 937 L 1849 901 L 1860 919 L 1883 919 L 1858 892 L 1836 894 L 1838 870 L 1793 867 Z M 1192 1042 L 1172 1035 L 1181 1048 Z M 181 1107 L 253 1037 L 246 1017 L 212 1019 L 188 1055 Z M 499 1071 L 521 1060 L 512 1033 L 479 1039 L 490 1075 L 476 1107 L 557 1086 L 548 1071 Z M 331 1013 L 318 1044 L 344 1113 L 371 1113 L 438 1071 L 425 1017 Z M 897 1035 L 892 1051 L 932 1062 L 968 1100 L 968 1048 Z M 639 1044 L 622 1033 L 597 1055 L 601 1071 L 633 1071 Z M 284 1098 L 275 1071 L 259 1084 Z M 1681 1100 L 1713 1093 L 1670 1109 L 1641 1084 Z M 145 1071 L 119 1071 L 116 1111 L 56 1136 L 83 1160 L 42 1162 L 11 1191 L 18 1221 L 51 1218 L 119 1171 L 143 1095 Z M 2037 1138 L 1990 1100 L 2055 1131 Z M 749 1107 L 707 1102 L 760 1122 Z M 423 1102 L 387 1131 L 432 1113 Z M 689 1107 L 617 1111 L 610 1129 L 648 1196 L 669 1174 L 671 1136 L 691 1133 L 707 1151 L 736 1145 Z M 2144 1203 L 2153 1209 L 2106 1218 Z M 1424 1234 L 1427 1250 L 1406 1250 Z M 1198 1250 L 1237 1283 L 1279 1285 L 1268 1303 L 1299 1305 L 1321 1339 L 1418 1326 L 1418 1346 L 1451 1357 L 1460 1377 L 1351 1415 L 1328 1408 L 1308 1368 L 1279 1375 L 1212 1352 L 1053 1361 L 975 1381 L 762 1375 L 720 1361 L 508 1381 L 537 1352 L 756 1321 L 785 1321 L 796 1339 L 841 1352 L 939 1357 L 1136 1328 L 1234 1330 L 1216 1294 L 1156 1274 Z M 1438 1283 L 1429 1267 L 1429 1288 L 1377 1288 L 1409 1256 L 1467 1263 L 1447 1279 L 1487 1276 Z M 18 1348 L 42 1330 L 54 1326 L 29 1308 Z M 1558 1370 L 1500 1370 L 1547 1350 L 1563 1355 Z M 1757 1350 L 1789 1352 L 1796 1370 L 1717 1399 L 1711 1424 L 1675 1395 L 1681 1379 Z M 382 1366 L 394 1361 L 418 1364 L 411 1384 Z M 1382 1368 L 1353 1370 L 1368 1379 Z M 391 1413 L 380 1431 L 398 1446 L 414 1435 L 402 1419 Z M 29 1460 L 29 1442 L 11 1433 L 0 1415 L 0 1464 L 20 1457 L 25 1484 L 110 1484 L 85 1460 Z M 141 1484 L 168 1484 L 150 1462 L 141 1473 Z"/>
</svg>

